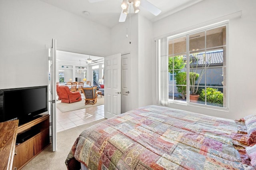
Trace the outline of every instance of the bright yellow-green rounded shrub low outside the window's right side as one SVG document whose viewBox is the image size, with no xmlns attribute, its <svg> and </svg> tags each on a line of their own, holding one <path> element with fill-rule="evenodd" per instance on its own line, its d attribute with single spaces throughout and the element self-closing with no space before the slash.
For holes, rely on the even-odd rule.
<svg viewBox="0 0 256 170">
<path fill-rule="evenodd" d="M 205 101 L 205 90 L 200 93 L 199 99 Z M 206 88 L 206 101 L 209 105 L 223 106 L 223 93 L 214 88 Z"/>
</svg>

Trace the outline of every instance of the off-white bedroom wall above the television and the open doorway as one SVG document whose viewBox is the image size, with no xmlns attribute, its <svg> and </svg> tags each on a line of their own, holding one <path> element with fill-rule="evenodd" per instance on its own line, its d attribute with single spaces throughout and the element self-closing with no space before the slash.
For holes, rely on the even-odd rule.
<svg viewBox="0 0 256 170">
<path fill-rule="evenodd" d="M 110 28 L 40 0 L 1 0 L 0 11 L 0 89 L 47 85 L 52 38 L 58 50 L 110 55 Z"/>
</svg>

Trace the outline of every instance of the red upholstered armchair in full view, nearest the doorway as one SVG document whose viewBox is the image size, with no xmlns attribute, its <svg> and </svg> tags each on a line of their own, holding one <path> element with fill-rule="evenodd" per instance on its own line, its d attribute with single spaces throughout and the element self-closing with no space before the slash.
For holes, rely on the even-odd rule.
<svg viewBox="0 0 256 170">
<path fill-rule="evenodd" d="M 62 103 L 74 103 L 76 101 L 81 101 L 82 97 L 79 91 L 71 92 L 68 86 L 59 86 L 59 91 L 61 94 Z"/>
</svg>

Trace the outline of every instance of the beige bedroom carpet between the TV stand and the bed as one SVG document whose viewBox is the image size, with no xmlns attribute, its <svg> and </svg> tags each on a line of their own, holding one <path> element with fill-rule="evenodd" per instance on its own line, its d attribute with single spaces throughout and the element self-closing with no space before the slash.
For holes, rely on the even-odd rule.
<svg viewBox="0 0 256 170">
<path fill-rule="evenodd" d="M 57 133 L 57 150 L 52 152 L 52 145 L 48 146 L 22 170 L 66 170 L 65 160 L 79 134 L 88 127 L 100 123 L 106 119 L 100 119 L 85 125 L 70 128 Z"/>
</svg>

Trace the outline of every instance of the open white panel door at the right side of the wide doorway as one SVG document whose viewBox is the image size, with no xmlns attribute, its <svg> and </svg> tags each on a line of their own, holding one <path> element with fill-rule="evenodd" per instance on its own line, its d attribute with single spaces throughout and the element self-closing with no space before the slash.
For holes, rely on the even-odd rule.
<svg viewBox="0 0 256 170">
<path fill-rule="evenodd" d="M 121 114 L 121 54 L 104 57 L 104 117 Z"/>
</svg>

